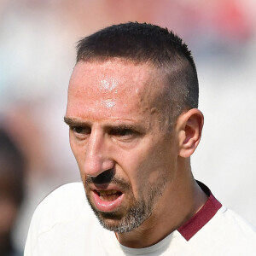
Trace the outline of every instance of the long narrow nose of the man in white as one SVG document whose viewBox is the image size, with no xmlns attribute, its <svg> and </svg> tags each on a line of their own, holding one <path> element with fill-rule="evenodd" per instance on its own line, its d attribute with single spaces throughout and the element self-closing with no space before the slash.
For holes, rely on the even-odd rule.
<svg viewBox="0 0 256 256">
<path fill-rule="evenodd" d="M 108 156 L 108 141 L 102 131 L 91 131 L 85 150 L 84 172 L 97 177 L 102 172 L 113 169 L 114 161 Z"/>
</svg>

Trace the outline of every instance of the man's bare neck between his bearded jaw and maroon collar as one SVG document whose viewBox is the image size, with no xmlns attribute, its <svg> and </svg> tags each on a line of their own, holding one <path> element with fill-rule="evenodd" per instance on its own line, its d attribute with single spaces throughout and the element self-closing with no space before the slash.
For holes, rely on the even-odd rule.
<svg viewBox="0 0 256 256">
<path fill-rule="evenodd" d="M 189 159 L 181 160 L 177 170 L 177 177 L 166 186 L 152 215 L 136 230 L 116 233 L 122 245 L 134 248 L 152 246 L 177 230 L 203 207 L 207 195 L 196 183 Z"/>
</svg>

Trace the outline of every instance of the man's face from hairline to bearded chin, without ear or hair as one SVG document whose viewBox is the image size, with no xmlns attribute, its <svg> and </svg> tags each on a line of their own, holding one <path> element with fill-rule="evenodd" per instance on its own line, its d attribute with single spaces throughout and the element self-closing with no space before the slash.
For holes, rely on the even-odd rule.
<svg viewBox="0 0 256 256">
<path fill-rule="evenodd" d="M 108 230 L 134 230 L 165 207 L 177 141 L 162 114 L 164 90 L 160 72 L 146 64 L 113 59 L 74 68 L 70 144 L 90 206 Z"/>
</svg>

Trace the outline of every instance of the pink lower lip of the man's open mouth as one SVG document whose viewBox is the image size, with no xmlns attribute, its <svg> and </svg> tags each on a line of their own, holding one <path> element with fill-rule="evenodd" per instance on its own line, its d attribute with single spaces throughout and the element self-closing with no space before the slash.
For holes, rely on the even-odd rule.
<svg viewBox="0 0 256 256">
<path fill-rule="evenodd" d="M 95 202 L 96 208 L 101 212 L 112 212 L 117 207 L 119 207 L 124 200 L 124 194 L 122 194 L 113 201 L 102 201 L 96 191 L 92 191 L 92 197 Z"/>
</svg>

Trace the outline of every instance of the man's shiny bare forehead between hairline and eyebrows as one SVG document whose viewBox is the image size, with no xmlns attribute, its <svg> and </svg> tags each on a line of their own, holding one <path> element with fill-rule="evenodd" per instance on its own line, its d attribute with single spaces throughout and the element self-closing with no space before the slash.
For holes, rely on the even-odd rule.
<svg viewBox="0 0 256 256">
<path fill-rule="evenodd" d="M 131 61 L 79 62 L 68 88 L 67 115 L 83 118 L 91 111 L 106 117 L 154 108 L 160 74 L 148 64 Z M 153 86 L 154 85 L 154 86 Z"/>
</svg>

